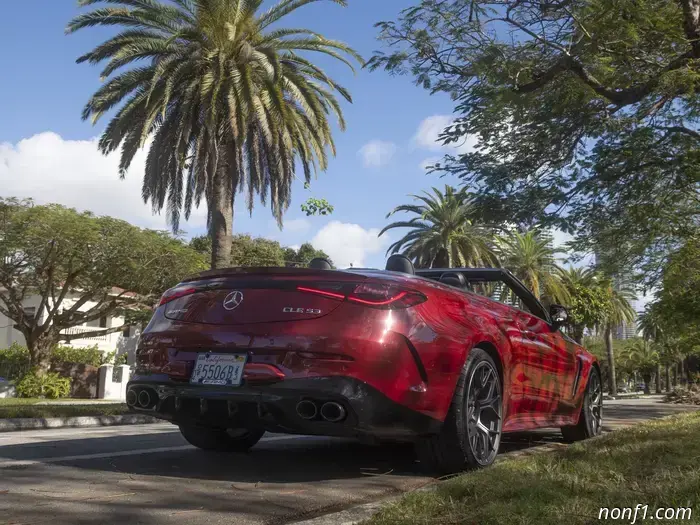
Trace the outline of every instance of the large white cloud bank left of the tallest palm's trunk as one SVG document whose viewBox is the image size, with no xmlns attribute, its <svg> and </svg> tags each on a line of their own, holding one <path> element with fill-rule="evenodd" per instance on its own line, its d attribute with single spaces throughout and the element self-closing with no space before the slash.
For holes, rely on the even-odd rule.
<svg viewBox="0 0 700 525">
<path fill-rule="evenodd" d="M 0 144 L 0 181 L 3 196 L 31 197 L 39 204 L 55 202 L 110 215 L 133 224 L 167 229 L 165 210 L 154 215 L 141 199 L 146 163 L 140 150 L 124 180 L 119 179 L 119 152 L 108 156 L 97 149 L 97 140 L 66 140 L 45 132 Z M 206 207 L 192 210 L 183 230 L 206 225 Z"/>
</svg>

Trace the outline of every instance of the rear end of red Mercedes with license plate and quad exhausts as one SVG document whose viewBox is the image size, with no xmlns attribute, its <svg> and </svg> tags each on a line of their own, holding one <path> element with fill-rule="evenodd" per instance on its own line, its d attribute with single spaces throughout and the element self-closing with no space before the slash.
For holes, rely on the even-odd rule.
<svg viewBox="0 0 700 525">
<path fill-rule="evenodd" d="M 296 268 L 205 272 L 140 337 L 127 403 L 177 424 L 412 439 L 426 371 L 407 334 L 421 279 Z M 422 290 L 422 291 L 421 291 Z"/>
</svg>

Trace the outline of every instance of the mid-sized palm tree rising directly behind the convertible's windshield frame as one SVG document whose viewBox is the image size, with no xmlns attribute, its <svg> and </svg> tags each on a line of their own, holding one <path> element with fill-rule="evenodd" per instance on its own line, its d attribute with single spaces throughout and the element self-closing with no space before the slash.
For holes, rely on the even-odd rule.
<svg viewBox="0 0 700 525">
<path fill-rule="evenodd" d="M 379 232 L 381 236 L 394 228 L 410 228 L 389 247 L 387 254 L 402 252 L 422 268 L 498 264 L 491 230 L 476 221 L 469 193 L 445 186 L 444 193 L 432 188 L 432 193 L 411 197 L 422 204 L 402 204 L 386 217 L 398 212 L 415 217 L 393 222 Z"/>
</svg>

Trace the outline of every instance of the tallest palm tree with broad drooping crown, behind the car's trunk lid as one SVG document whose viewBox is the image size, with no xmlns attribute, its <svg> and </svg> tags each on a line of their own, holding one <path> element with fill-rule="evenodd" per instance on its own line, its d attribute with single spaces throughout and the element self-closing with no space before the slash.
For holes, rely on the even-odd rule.
<svg viewBox="0 0 700 525">
<path fill-rule="evenodd" d="M 208 206 L 212 266 L 230 260 L 233 200 L 246 191 L 282 224 L 295 165 L 307 182 L 335 154 L 328 116 L 344 121 L 334 92 L 347 90 L 300 53 L 317 52 L 352 68 L 361 57 L 341 42 L 307 29 L 273 25 L 319 0 L 280 0 L 260 12 L 263 0 L 80 0 L 113 4 L 75 17 L 73 33 L 93 26 L 121 32 L 78 58 L 107 60 L 109 79 L 83 110 L 97 121 L 116 115 L 99 141 L 104 154 L 121 147 L 124 177 L 136 152 L 148 147 L 142 195 L 155 211 L 166 206 L 178 229 L 202 198 Z M 346 0 L 333 0 L 346 5 Z M 145 61 L 145 62 L 141 62 Z M 151 140 L 149 144 L 149 140 Z"/>
</svg>

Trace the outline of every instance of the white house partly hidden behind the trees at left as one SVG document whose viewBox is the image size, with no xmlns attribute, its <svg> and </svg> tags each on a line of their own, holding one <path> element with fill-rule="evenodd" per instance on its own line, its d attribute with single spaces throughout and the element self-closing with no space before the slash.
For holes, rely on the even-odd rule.
<svg viewBox="0 0 700 525">
<path fill-rule="evenodd" d="M 120 291 L 121 290 L 116 290 L 115 293 L 118 293 Z M 61 303 L 61 308 L 70 308 L 75 304 L 78 298 L 79 296 L 72 295 L 69 292 L 68 295 L 64 298 L 63 302 Z M 23 302 L 25 314 L 33 316 L 37 315 L 37 309 L 39 308 L 40 303 L 41 297 L 39 295 L 27 297 Z M 87 301 L 84 305 L 80 307 L 80 311 L 90 310 L 90 308 L 92 308 L 96 304 L 97 303 L 95 303 L 94 301 Z M 46 310 L 44 310 L 41 313 L 41 315 L 46 316 Z M 19 330 L 13 328 L 14 324 L 15 323 L 11 319 L 8 319 L 2 313 L 0 313 L 0 348 L 7 348 L 15 342 L 22 345 L 25 344 L 24 336 Z M 123 317 L 120 317 L 118 315 L 105 316 L 94 321 L 89 321 L 82 325 L 73 326 L 71 328 L 63 330 L 61 333 L 67 335 L 74 335 L 94 332 L 96 330 L 100 330 L 101 328 L 106 329 L 116 327 L 123 327 L 123 329 L 106 335 L 93 335 L 84 338 L 81 337 L 78 339 L 73 339 L 70 342 L 62 342 L 61 344 L 73 346 L 76 348 L 85 346 L 97 346 L 99 350 L 102 350 L 105 353 L 116 351 L 117 355 L 127 353 L 129 355 L 128 361 L 132 363 L 134 358 L 134 351 L 136 349 L 138 333 L 135 327 L 124 325 Z"/>
</svg>

